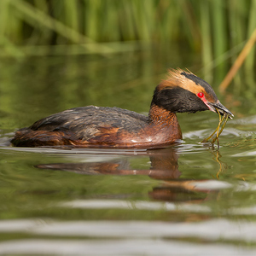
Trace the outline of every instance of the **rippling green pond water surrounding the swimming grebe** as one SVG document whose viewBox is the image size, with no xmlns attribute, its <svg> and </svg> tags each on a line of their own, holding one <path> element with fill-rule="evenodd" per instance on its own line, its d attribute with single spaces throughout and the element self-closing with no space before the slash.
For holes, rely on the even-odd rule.
<svg viewBox="0 0 256 256">
<path fill-rule="evenodd" d="M 235 118 L 219 151 L 200 143 L 218 125 L 211 112 L 178 114 L 183 143 L 165 149 L 12 148 L 17 128 L 67 108 L 147 113 L 178 65 L 137 53 L 0 66 L 1 254 L 254 255 L 253 101 L 220 96 Z"/>
</svg>

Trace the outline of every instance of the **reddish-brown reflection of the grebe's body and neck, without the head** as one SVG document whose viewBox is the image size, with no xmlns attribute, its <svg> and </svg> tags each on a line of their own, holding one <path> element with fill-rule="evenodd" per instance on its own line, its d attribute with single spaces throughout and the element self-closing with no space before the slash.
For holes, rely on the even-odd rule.
<svg viewBox="0 0 256 256">
<path fill-rule="evenodd" d="M 178 156 L 174 148 L 147 150 L 144 151 L 144 155 L 149 156 L 151 163 L 150 169 L 131 169 L 129 161 L 121 158 L 101 162 L 43 164 L 37 167 L 40 169 L 61 170 L 87 175 L 148 175 L 149 177 L 161 180 L 177 179 L 180 177 L 181 172 L 178 171 L 177 165 Z"/>
</svg>

